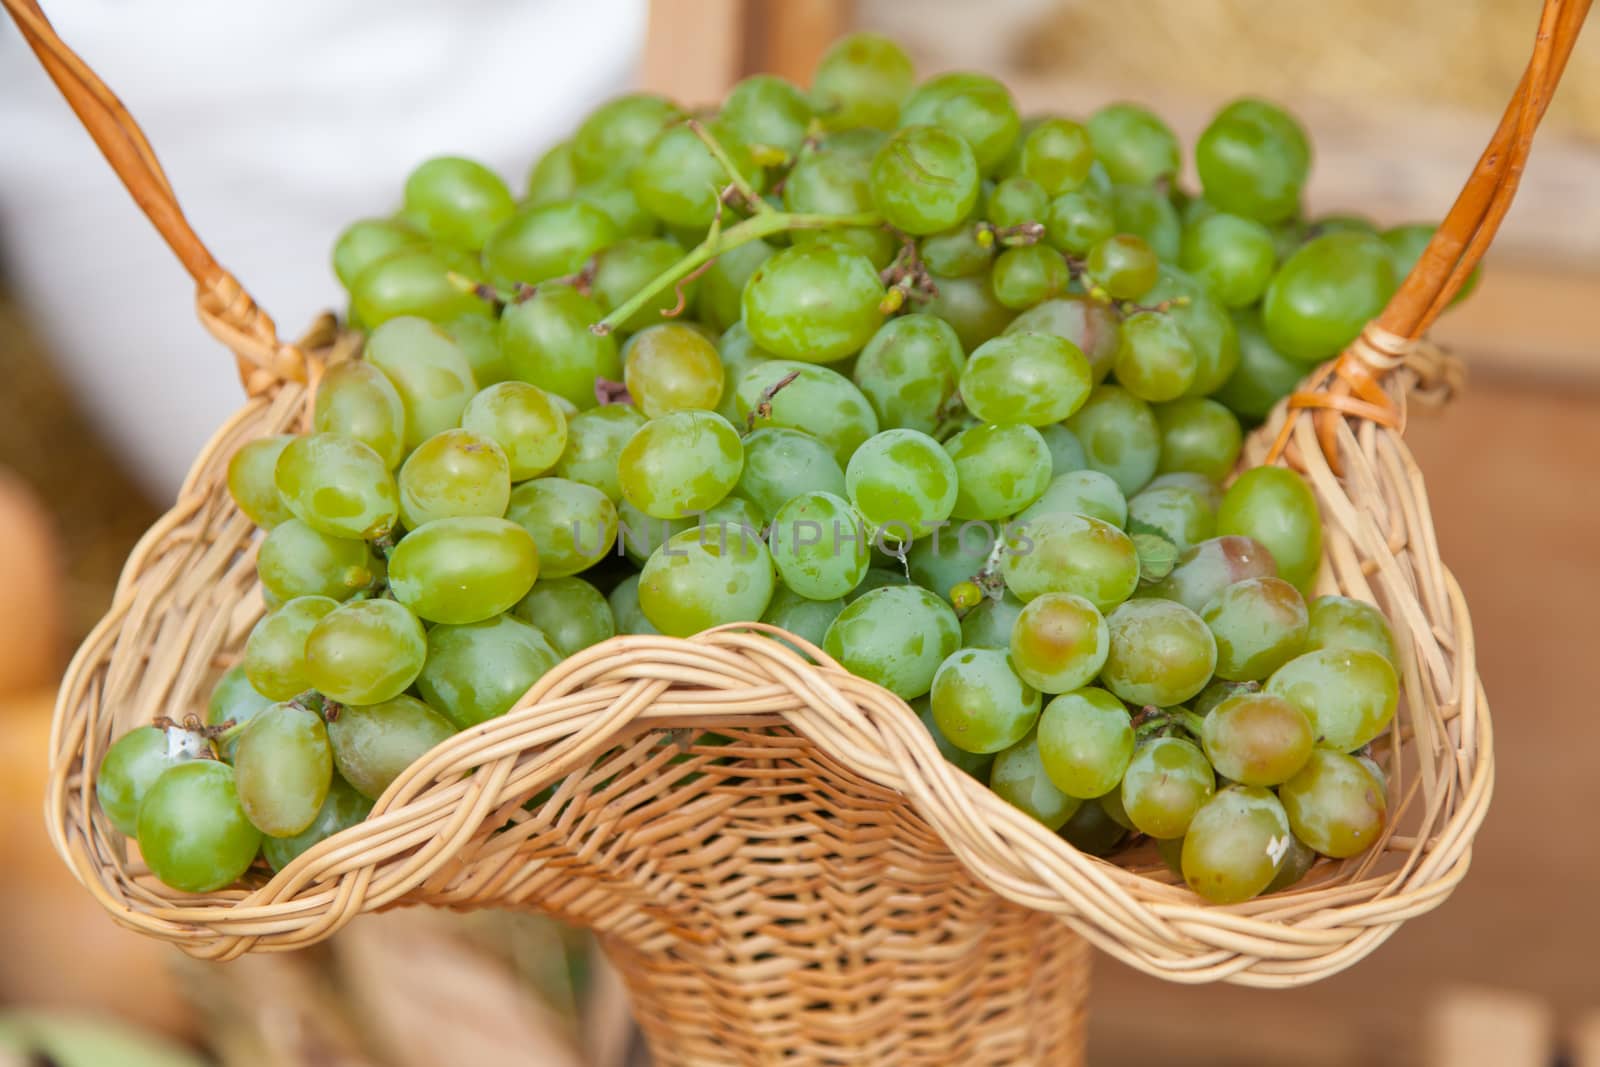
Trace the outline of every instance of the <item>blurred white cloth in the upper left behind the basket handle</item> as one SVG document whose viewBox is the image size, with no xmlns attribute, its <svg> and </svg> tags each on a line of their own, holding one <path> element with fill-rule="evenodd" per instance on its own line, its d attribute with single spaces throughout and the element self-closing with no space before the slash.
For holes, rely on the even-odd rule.
<svg viewBox="0 0 1600 1067">
<path fill-rule="evenodd" d="M 539 152 L 630 86 L 645 34 L 645 0 L 45 8 L 139 120 L 195 232 L 286 336 L 341 301 L 334 237 L 394 210 L 411 166 L 469 155 L 520 192 Z M 234 362 L 10 19 L 0 254 L 91 414 L 173 496 L 240 403 Z"/>
</svg>

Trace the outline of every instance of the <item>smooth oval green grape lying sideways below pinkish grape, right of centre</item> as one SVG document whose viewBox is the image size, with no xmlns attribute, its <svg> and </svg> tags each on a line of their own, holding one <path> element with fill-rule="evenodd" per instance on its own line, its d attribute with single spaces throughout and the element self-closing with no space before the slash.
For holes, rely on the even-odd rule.
<svg viewBox="0 0 1600 1067">
<path fill-rule="evenodd" d="M 962 398 L 986 422 L 1061 422 L 1083 406 L 1090 389 L 1083 352 L 1048 333 L 987 341 L 962 370 Z"/>
</svg>

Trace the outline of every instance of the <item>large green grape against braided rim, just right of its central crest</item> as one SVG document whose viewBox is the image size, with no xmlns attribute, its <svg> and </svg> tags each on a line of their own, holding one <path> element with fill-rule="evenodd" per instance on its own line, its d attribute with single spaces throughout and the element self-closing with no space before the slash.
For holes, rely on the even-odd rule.
<svg viewBox="0 0 1600 1067">
<path fill-rule="evenodd" d="M 926 589 L 904 584 L 882 585 L 854 600 L 846 597 L 845 609 L 822 638 L 822 649 L 846 670 L 904 701 L 925 694 L 939 664 L 960 645 L 962 624 L 950 605 Z"/>
</svg>

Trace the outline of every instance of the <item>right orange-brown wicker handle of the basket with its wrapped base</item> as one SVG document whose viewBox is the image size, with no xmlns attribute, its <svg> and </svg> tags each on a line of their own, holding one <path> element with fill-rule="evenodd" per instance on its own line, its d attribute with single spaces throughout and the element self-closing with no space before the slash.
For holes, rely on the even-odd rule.
<svg viewBox="0 0 1600 1067">
<path fill-rule="evenodd" d="M 1378 318 L 1309 390 L 1290 397 L 1290 418 L 1283 421 L 1267 462 L 1283 453 L 1294 416 L 1301 411 L 1315 413 L 1317 442 L 1334 472 L 1341 469 L 1341 416 L 1402 426 L 1402 413 L 1381 382 L 1400 366 L 1429 370 L 1426 360 L 1414 358 L 1419 341 L 1466 283 L 1506 218 L 1522 181 L 1533 133 L 1550 106 L 1550 94 L 1566 69 L 1589 5 L 1590 0 L 1544 0 L 1533 58 L 1450 214 Z"/>
</svg>

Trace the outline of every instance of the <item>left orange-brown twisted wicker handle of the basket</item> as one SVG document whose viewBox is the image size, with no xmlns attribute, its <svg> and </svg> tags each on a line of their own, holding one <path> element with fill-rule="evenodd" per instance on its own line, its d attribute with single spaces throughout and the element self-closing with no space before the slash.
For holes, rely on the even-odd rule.
<svg viewBox="0 0 1600 1067">
<path fill-rule="evenodd" d="M 285 381 L 304 382 L 304 354 L 278 341 L 272 318 L 206 250 L 195 235 L 178 197 L 162 171 L 155 150 L 146 141 L 117 94 L 106 88 L 88 64 L 67 48 L 37 0 L 0 0 L 22 30 L 50 78 L 67 98 L 83 128 L 94 138 L 106 160 L 134 202 L 155 224 L 184 269 L 195 280 L 200 322 L 226 344 L 238 362 L 238 378 L 251 397 L 275 390 Z"/>
</svg>

